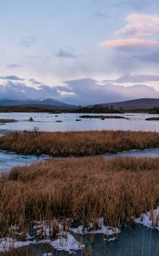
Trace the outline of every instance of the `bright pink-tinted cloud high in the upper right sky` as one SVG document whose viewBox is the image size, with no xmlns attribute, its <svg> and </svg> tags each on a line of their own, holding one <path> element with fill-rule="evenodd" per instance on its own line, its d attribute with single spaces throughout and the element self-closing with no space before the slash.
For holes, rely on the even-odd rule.
<svg viewBox="0 0 159 256">
<path fill-rule="evenodd" d="M 159 34 L 159 16 L 134 13 L 128 15 L 126 20 L 126 26 L 115 32 L 119 38 L 100 42 L 99 46 L 141 52 L 159 47 L 159 40 L 154 39 Z"/>
</svg>

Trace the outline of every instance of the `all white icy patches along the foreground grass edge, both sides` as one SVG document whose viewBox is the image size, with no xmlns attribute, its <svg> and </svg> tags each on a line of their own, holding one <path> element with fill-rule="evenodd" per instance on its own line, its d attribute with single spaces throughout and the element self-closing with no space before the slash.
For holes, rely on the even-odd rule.
<svg viewBox="0 0 159 256">
<path fill-rule="evenodd" d="M 136 224 L 143 224 L 150 229 L 159 231 L 159 207 L 151 212 L 141 213 L 139 218 L 134 219 Z M 16 241 L 10 237 L 0 239 L 0 253 L 9 251 L 10 249 L 16 249 L 19 247 L 30 246 L 31 244 L 48 244 L 58 251 L 65 251 L 67 253 L 74 253 L 75 251 L 82 250 L 85 245 L 77 241 L 73 234 L 79 234 L 82 236 L 89 234 L 104 234 L 106 237 L 104 241 L 115 241 L 116 236 L 121 233 L 120 229 L 105 226 L 104 218 L 99 218 L 98 228 L 94 230 L 93 223 L 88 224 L 88 229 L 83 225 L 79 225 L 77 228 L 68 228 L 64 230 L 63 224 L 58 224 L 58 233 L 53 240 L 50 236 L 53 236 L 53 225 L 46 224 L 46 222 L 37 222 L 34 226 L 37 236 L 43 234 L 43 240 L 37 240 L 33 236 L 27 234 L 26 241 Z M 14 227 L 13 227 L 14 229 Z M 14 234 L 19 234 L 15 231 Z M 32 240 L 31 240 L 32 239 Z"/>
</svg>

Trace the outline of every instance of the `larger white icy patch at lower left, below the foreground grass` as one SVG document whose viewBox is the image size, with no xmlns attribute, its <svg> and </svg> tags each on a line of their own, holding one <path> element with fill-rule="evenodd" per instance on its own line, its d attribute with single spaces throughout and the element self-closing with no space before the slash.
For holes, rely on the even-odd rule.
<svg viewBox="0 0 159 256">
<path fill-rule="evenodd" d="M 43 234 L 45 239 L 37 241 L 36 239 L 33 239 L 33 237 L 27 235 L 26 241 L 15 241 L 10 237 L 0 239 L 0 252 L 9 251 L 9 249 L 13 248 L 19 248 L 19 247 L 26 247 L 31 244 L 48 244 L 54 249 L 58 251 L 65 251 L 67 253 L 72 253 L 73 251 L 81 250 L 85 247 L 84 244 L 77 241 L 76 238 L 73 236 L 74 234 L 80 234 L 80 235 L 87 235 L 87 234 L 104 234 L 108 236 L 107 241 L 113 241 L 116 239 L 115 235 L 119 234 L 121 230 L 108 227 L 104 225 L 104 219 L 99 218 L 98 221 L 99 229 L 93 230 L 92 224 L 89 224 L 89 230 L 86 230 L 83 228 L 83 226 L 79 226 L 78 228 L 70 228 L 68 231 L 64 231 L 63 224 L 59 224 L 59 232 L 57 234 L 57 237 L 52 240 L 50 239 L 50 236 L 53 235 L 53 226 L 48 226 L 44 222 L 37 223 L 34 226 L 34 229 L 36 230 L 37 236 L 40 234 Z M 14 229 L 14 227 L 13 227 Z M 15 234 L 19 234 L 19 231 L 15 231 Z M 32 238 L 32 241 L 31 241 Z"/>
</svg>

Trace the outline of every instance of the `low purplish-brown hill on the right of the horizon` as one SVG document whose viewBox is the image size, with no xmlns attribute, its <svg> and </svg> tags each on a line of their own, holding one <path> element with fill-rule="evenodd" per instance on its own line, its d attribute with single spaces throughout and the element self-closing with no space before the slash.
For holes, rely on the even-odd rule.
<svg viewBox="0 0 159 256">
<path fill-rule="evenodd" d="M 100 106 L 102 108 L 113 108 L 115 110 L 137 110 L 137 109 L 151 109 L 159 108 L 159 99 L 155 98 L 142 98 L 137 100 L 131 100 L 126 102 L 111 102 L 105 104 L 99 104 L 94 106 Z"/>
</svg>

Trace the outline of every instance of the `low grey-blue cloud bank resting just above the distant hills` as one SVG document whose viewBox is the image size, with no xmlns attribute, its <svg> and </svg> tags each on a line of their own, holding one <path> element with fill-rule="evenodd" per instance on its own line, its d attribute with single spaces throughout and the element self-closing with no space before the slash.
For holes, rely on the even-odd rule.
<svg viewBox="0 0 159 256">
<path fill-rule="evenodd" d="M 0 78 L 0 99 L 54 98 L 75 105 L 89 105 L 142 97 L 159 98 L 159 91 L 144 84 L 151 80 L 159 81 L 159 76 L 128 74 L 100 82 L 94 79 L 77 79 L 65 81 L 63 86 L 48 86 L 35 79 L 26 80 L 14 76 L 4 78 Z M 123 86 L 124 83 L 134 85 Z"/>
</svg>

